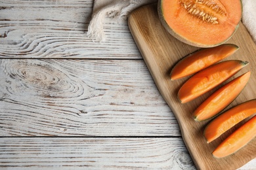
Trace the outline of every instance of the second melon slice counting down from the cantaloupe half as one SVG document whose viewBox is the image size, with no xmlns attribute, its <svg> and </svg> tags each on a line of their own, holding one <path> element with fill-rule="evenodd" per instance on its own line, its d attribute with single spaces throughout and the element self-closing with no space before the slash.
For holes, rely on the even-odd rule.
<svg viewBox="0 0 256 170">
<path fill-rule="evenodd" d="M 211 65 L 189 78 L 181 86 L 178 98 L 181 103 L 192 101 L 235 75 L 247 64 L 247 61 L 229 60 Z"/>
</svg>

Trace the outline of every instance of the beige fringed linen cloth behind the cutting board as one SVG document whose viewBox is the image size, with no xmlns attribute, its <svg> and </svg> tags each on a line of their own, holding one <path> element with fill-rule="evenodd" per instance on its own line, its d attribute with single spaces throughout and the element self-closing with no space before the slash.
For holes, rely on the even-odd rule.
<svg viewBox="0 0 256 170">
<path fill-rule="evenodd" d="M 158 0 L 95 0 L 87 36 L 91 37 L 93 41 L 105 41 L 104 24 L 102 22 L 104 18 L 112 18 L 113 22 L 118 23 L 119 20 L 126 20 L 132 10 L 156 2 Z M 242 0 L 242 3 L 242 22 L 256 43 L 256 0 Z"/>
</svg>

